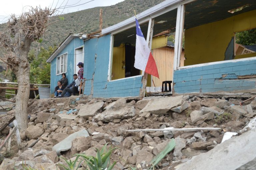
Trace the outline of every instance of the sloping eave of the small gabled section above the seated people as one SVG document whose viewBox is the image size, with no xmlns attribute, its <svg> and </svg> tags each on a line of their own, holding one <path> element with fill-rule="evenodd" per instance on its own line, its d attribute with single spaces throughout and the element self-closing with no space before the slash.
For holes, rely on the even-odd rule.
<svg viewBox="0 0 256 170">
<path fill-rule="evenodd" d="M 50 63 L 59 53 L 61 50 L 65 48 L 65 46 L 73 39 L 73 38 L 80 38 L 82 40 L 85 40 L 88 38 L 87 34 L 73 34 L 69 33 L 67 38 L 62 41 L 62 43 L 59 45 L 59 47 L 52 53 L 52 55 L 46 60 L 47 63 Z"/>
</svg>

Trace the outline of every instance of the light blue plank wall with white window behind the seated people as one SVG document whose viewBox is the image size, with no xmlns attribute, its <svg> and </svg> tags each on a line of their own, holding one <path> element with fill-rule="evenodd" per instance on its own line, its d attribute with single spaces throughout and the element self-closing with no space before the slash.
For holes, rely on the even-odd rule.
<svg viewBox="0 0 256 170">
<path fill-rule="evenodd" d="M 73 74 L 74 73 L 74 57 L 75 57 L 75 48 L 78 48 L 80 46 L 84 45 L 84 41 L 80 38 L 74 38 L 72 39 L 69 44 L 66 45 L 66 47 L 57 55 L 60 56 L 62 54 L 67 53 L 67 78 L 68 78 L 68 84 L 70 84 L 73 81 Z M 51 61 L 51 93 L 54 93 L 54 88 L 57 86 L 57 82 L 62 78 L 61 74 L 56 75 L 56 60 L 57 57 L 55 57 Z M 77 74 L 77 73 L 76 73 Z"/>
</svg>

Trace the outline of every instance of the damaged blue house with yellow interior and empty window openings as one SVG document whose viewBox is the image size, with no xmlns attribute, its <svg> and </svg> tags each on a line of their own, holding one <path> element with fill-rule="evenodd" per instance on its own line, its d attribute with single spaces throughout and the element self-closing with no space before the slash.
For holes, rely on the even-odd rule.
<svg viewBox="0 0 256 170">
<path fill-rule="evenodd" d="M 256 4 L 252 0 L 166 0 L 137 14 L 137 19 L 151 49 L 155 44 L 158 48 L 166 46 L 166 36 L 154 35 L 166 30 L 175 33 L 173 64 L 169 64 L 170 58 L 159 55 L 168 72 L 172 71 L 166 79 L 173 79 L 173 93 L 255 88 L 256 53 L 235 52 L 236 33 L 256 28 Z M 72 80 L 76 61 L 83 60 L 85 95 L 139 96 L 143 73 L 133 67 L 135 42 L 134 17 L 102 29 L 97 37 L 70 34 L 47 60 L 51 62 L 51 92 L 60 73 L 67 72 Z M 83 56 L 78 57 L 81 53 Z M 148 78 L 148 85 L 154 86 L 151 80 Z"/>
</svg>

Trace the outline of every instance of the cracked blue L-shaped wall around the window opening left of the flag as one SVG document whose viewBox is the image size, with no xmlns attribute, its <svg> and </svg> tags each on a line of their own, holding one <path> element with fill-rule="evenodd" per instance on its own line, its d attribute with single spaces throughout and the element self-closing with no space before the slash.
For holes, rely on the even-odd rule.
<svg viewBox="0 0 256 170">
<path fill-rule="evenodd" d="M 85 95 L 93 97 L 139 96 L 141 76 L 107 81 L 110 34 L 84 43 Z"/>
</svg>

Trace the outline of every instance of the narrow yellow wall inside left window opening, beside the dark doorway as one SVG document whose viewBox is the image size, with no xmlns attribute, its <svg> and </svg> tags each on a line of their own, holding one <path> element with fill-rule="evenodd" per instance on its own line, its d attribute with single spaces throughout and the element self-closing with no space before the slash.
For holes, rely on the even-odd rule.
<svg viewBox="0 0 256 170">
<path fill-rule="evenodd" d="M 112 80 L 125 77 L 125 69 L 123 69 L 122 61 L 125 61 L 124 44 L 121 44 L 119 47 L 113 48 Z"/>
</svg>

